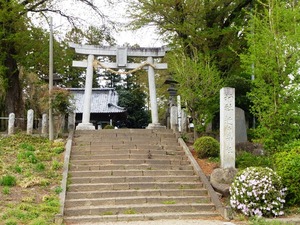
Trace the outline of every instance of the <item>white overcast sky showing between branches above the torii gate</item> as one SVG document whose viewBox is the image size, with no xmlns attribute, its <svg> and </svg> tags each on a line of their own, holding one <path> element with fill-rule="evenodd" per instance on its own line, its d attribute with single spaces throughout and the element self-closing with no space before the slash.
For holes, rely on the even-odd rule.
<svg viewBox="0 0 300 225">
<path fill-rule="evenodd" d="M 120 0 L 113 0 L 115 2 Z M 102 3 L 102 5 L 100 5 Z M 125 23 L 128 21 L 126 19 L 126 3 L 125 1 L 121 1 L 121 3 L 115 4 L 113 7 L 104 4 L 104 0 L 94 0 L 94 4 L 96 4 L 100 10 L 109 16 L 109 19 L 119 23 Z M 76 15 L 81 18 L 82 26 L 96 26 L 97 23 L 99 25 L 102 24 L 102 21 L 99 21 L 98 18 L 90 8 L 84 6 L 78 0 L 65 0 L 60 1 L 56 0 L 56 5 L 64 12 L 68 14 Z M 55 33 L 64 33 L 67 28 L 68 22 L 57 15 L 53 15 L 53 27 Z M 121 27 L 120 27 L 121 29 Z M 122 46 L 125 43 L 129 43 L 131 45 L 138 44 L 141 47 L 161 47 L 164 43 L 159 39 L 157 32 L 154 27 L 147 27 L 140 29 L 138 31 L 118 31 L 118 33 L 113 33 L 113 36 L 117 40 L 117 45 Z"/>
</svg>

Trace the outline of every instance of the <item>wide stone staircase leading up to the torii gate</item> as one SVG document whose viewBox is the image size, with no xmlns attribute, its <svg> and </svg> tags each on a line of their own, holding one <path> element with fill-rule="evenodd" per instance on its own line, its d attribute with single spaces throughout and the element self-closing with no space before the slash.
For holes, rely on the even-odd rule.
<svg viewBox="0 0 300 225">
<path fill-rule="evenodd" d="M 76 131 L 66 224 L 218 217 L 171 130 Z"/>
</svg>

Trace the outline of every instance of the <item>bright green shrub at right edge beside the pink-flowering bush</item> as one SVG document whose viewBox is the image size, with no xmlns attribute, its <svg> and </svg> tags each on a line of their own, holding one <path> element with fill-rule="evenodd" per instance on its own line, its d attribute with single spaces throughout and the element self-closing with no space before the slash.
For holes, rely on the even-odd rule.
<svg viewBox="0 0 300 225">
<path fill-rule="evenodd" d="M 287 187 L 287 203 L 300 204 L 300 146 L 274 155 L 275 170 Z"/>
</svg>

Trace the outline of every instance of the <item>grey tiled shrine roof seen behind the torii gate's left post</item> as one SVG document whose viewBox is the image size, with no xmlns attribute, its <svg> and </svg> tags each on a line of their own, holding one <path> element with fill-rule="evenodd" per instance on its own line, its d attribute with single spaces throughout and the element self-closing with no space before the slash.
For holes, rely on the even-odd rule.
<svg viewBox="0 0 300 225">
<path fill-rule="evenodd" d="M 67 88 L 74 95 L 76 113 L 83 112 L 84 88 Z M 93 88 L 91 97 L 91 113 L 123 113 L 118 106 L 118 93 L 113 88 Z"/>
</svg>

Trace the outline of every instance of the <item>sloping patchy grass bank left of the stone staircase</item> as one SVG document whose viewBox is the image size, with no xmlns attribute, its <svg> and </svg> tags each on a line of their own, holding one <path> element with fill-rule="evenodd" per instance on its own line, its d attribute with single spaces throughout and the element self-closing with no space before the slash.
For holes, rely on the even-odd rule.
<svg viewBox="0 0 300 225">
<path fill-rule="evenodd" d="M 60 209 L 62 146 L 21 133 L 0 138 L 0 224 L 54 224 Z"/>
</svg>

